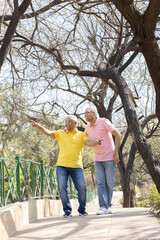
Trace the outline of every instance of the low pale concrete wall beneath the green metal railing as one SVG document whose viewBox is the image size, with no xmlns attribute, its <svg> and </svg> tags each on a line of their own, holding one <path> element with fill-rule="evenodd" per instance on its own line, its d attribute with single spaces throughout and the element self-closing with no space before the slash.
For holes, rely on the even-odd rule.
<svg viewBox="0 0 160 240">
<path fill-rule="evenodd" d="M 72 212 L 77 212 L 78 200 L 71 199 Z M 87 205 L 97 204 L 97 199 Z M 63 215 L 60 200 L 37 199 L 18 202 L 0 209 L 0 240 L 6 240 L 16 231 L 36 219 Z"/>
</svg>

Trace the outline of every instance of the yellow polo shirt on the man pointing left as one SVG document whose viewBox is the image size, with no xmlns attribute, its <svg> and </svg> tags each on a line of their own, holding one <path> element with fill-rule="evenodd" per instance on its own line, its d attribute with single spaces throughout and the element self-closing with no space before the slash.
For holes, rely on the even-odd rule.
<svg viewBox="0 0 160 240">
<path fill-rule="evenodd" d="M 54 135 L 60 148 L 57 166 L 83 168 L 83 144 L 88 139 L 86 134 L 76 129 L 74 132 L 58 130 Z"/>
</svg>

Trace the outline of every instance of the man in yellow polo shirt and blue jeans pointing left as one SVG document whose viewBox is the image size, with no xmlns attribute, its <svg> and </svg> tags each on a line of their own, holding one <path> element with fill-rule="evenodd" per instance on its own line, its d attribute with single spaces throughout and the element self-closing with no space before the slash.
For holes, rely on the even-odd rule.
<svg viewBox="0 0 160 240">
<path fill-rule="evenodd" d="M 58 191 L 63 205 L 64 217 L 71 217 L 72 207 L 68 198 L 67 181 L 71 176 L 76 190 L 78 191 L 79 216 L 87 216 L 86 207 L 86 185 L 82 170 L 83 144 L 93 147 L 101 144 L 101 140 L 91 141 L 84 132 L 76 128 L 77 117 L 68 115 L 65 119 L 65 130 L 50 131 L 33 120 L 32 126 L 40 130 L 46 136 L 56 139 L 59 143 L 60 152 L 57 161 Z"/>
</svg>

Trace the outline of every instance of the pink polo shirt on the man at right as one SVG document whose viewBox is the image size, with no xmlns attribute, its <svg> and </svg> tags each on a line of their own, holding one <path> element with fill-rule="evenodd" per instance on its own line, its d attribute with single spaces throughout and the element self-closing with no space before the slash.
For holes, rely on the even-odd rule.
<svg viewBox="0 0 160 240">
<path fill-rule="evenodd" d="M 115 130 L 113 124 L 106 118 L 97 118 L 95 124 L 90 123 L 85 128 L 86 135 L 93 141 L 103 140 L 101 145 L 94 147 L 94 161 L 113 160 L 115 145 L 112 133 Z"/>
</svg>

